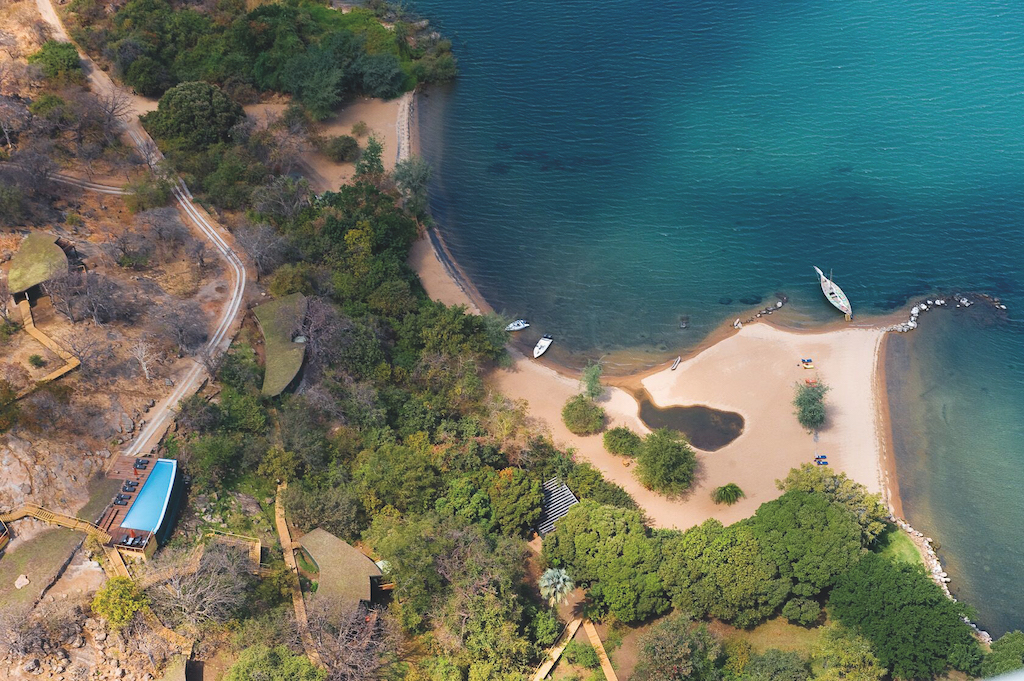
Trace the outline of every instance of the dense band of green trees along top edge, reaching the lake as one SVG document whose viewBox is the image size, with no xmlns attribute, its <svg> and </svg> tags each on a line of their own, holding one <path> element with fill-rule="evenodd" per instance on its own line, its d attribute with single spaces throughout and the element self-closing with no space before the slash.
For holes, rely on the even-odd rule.
<svg viewBox="0 0 1024 681">
<path fill-rule="evenodd" d="M 403 14 L 388 30 L 368 8 L 342 13 L 292 0 L 247 10 L 225 0 L 204 11 L 131 0 L 109 14 L 96 0 L 75 0 L 71 12 L 75 40 L 146 96 L 207 81 L 244 102 L 288 92 L 323 119 L 352 94 L 393 97 L 417 82 L 450 80 L 456 69 L 447 41 L 415 37 Z"/>
</svg>

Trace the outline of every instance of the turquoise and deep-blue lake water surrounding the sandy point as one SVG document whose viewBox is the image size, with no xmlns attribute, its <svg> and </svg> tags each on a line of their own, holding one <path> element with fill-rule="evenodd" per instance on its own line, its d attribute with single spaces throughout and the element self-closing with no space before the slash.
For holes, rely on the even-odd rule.
<svg viewBox="0 0 1024 681">
<path fill-rule="evenodd" d="M 434 216 L 556 359 L 675 356 L 777 293 L 791 324 L 835 320 L 812 264 L 858 320 L 1008 304 L 926 313 L 890 398 L 908 519 L 983 627 L 1024 628 L 1024 4 L 417 8 L 461 60 L 420 98 Z"/>
</svg>

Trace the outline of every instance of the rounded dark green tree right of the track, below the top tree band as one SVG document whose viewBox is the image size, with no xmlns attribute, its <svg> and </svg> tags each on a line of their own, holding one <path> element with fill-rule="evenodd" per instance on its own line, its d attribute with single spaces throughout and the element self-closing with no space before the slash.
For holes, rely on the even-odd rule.
<svg viewBox="0 0 1024 681">
<path fill-rule="evenodd" d="M 157 137 L 183 151 L 202 151 L 228 139 L 228 131 L 245 119 L 242 107 L 216 85 L 195 81 L 175 85 L 160 98 L 157 111 L 142 117 Z"/>
</svg>

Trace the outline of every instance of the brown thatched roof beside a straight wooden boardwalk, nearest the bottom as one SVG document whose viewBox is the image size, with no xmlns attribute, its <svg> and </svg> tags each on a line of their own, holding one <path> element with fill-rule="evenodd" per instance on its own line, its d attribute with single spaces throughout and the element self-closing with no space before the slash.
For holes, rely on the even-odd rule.
<svg viewBox="0 0 1024 681">
<path fill-rule="evenodd" d="M 337 600 L 346 610 L 354 610 L 360 601 L 370 600 L 370 578 L 381 570 L 366 554 L 317 527 L 299 539 L 319 569 L 318 595 Z"/>
</svg>

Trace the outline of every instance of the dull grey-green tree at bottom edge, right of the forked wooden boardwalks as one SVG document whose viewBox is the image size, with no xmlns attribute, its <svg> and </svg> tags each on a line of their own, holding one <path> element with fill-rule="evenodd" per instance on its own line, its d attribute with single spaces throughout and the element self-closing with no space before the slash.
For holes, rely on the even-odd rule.
<svg viewBox="0 0 1024 681">
<path fill-rule="evenodd" d="M 674 614 L 640 637 L 633 681 L 718 681 L 722 645 L 706 625 Z"/>
</svg>

